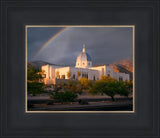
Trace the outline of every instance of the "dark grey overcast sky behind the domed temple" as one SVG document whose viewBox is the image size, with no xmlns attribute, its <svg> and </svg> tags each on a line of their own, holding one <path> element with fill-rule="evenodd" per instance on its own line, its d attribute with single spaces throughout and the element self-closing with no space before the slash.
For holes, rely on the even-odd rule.
<svg viewBox="0 0 160 138">
<path fill-rule="evenodd" d="M 39 54 L 42 46 L 63 27 L 29 27 L 27 30 L 28 61 L 46 61 L 75 65 L 85 44 L 93 65 L 112 64 L 133 57 L 131 27 L 70 27 L 55 37 Z"/>
</svg>

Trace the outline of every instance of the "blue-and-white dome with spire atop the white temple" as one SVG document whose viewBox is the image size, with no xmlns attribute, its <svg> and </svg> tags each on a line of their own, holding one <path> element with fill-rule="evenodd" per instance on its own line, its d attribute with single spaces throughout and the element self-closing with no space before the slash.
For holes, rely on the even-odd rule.
<svg viewBox="0 0 160 138">
<path fill-rule="evenodd" d="M 77 56 L 76 68 L 89 68 L 92 67 L 92 59 L 90 55 L 85 50 L 85 45 L 83 44 L 82 52 Z"/>
</svg>

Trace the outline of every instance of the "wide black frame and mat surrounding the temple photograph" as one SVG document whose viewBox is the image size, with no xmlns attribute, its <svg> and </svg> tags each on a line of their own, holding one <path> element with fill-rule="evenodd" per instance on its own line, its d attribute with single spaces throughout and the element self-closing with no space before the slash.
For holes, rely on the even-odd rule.
<svg viewBox="0 0 160 138">
<path fill-rule="evenodd" d="M 0 137 L 159 138 L 159 0 L 1 1 Z M 135 113 L 25 113 L 25 25 L 135 25 Z"/>
</svg>

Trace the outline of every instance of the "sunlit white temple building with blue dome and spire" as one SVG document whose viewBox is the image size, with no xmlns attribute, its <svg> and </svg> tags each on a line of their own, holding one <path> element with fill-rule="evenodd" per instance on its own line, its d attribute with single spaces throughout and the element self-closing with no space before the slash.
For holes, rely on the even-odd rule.
<svg viewBox="0 0 160 138">
<path fill-rule="evenodd" d="M 80 79 L 81 77 L 88 78 L 89 80 L 99 80 L 102 75 L 110 76 L 116 80 L 130 80 L 129 74 L 114 72 L 113 67 L 108 65 L 92 66 L 92 59 L 85 50 L 83 45 L 82 52 L 77 56 L 75 67 L 62 67 L 56 65 L 43 65 L 44 83 L 56 84 L 60 81 L 67 81 L 72 78 L 73 80 Z"/>
</svg>

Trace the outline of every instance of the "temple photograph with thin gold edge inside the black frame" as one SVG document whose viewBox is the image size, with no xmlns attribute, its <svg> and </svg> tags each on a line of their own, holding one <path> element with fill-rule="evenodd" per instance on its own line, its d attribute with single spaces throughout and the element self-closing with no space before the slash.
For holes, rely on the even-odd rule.
<svg viewBox="0 0 160 138">
<path fill-rule="evenodd" d="M 26 112 L 134 112 L 134 29 L 26 25 Z"/>
</svg>

